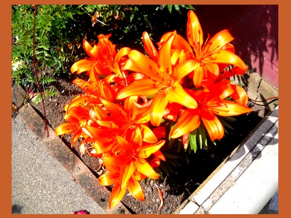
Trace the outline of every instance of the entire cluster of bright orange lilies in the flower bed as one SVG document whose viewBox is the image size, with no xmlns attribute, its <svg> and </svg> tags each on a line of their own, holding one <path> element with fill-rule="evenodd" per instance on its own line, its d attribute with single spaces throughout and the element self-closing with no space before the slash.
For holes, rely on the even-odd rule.
<svg viewBox="0 0 291 218">
<path fill-rule="evenodd" d="M 73 82 L 85 93 L 65 105 L 64 119 L 55 131 L 70 134 L 72 146 L 81 137 L 81 154 L 102 157 L 107 169 L 98 180 L 114 185 L 109 207 L 130 194 L 144 201 L 140 180 L 159 178 L 154 168 L 165 161 L 160 151 L 168 137 L 183 138 L 201 124 L 211 141 L 224 136 L 218 116 L 251 111 L 242 87 L 229 77 L 244 74 L 247 66 L 234 54 L 227 30 L 204 42 L 197 16 L 188 13 L 187 38 L 176 31 L 164 34 L 155 47 L 147 32 L 143 42 L 148 56 L 129 47 L 116 51 L 109 35 L 98 35 L 93 47 L 84 40 L 88 58 L 73 64 L 71 72 L 87 72 L 88 81 Z M 231 71 L 225 68 L 235 65 Z M 164 120 L 175 123 L 169 136 Z M 86 145 L 87 144 L 87 145 Z"/>
</svg>

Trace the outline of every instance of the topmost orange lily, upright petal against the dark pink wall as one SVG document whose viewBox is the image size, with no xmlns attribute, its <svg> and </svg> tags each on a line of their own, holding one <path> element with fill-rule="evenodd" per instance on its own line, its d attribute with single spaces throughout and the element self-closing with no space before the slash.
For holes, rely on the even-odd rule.
<svg viewBox="0 0 291 218">
<path fill-rule="evenodd" d="M 213 37 L 203 41 L 203 31 L 199 20 L 193 11 L 188 12 L 187 22 L 188 42 L 194 50 L 193 82 L 196 88 L 201 86 L 203 79 L 215 80 L 220 73 L 218 63 L 233 64 L 246 71 L 247 66 L 235 55 L 229 47 L 234 38 L 228 30 L 216 33 Z M 210 39 L 209 39 L 210 38 Z"/>
</svg>

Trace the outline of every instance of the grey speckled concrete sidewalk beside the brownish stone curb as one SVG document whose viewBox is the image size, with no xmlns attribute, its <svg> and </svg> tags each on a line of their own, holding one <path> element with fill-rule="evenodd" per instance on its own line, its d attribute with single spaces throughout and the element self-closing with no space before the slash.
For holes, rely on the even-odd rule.
<svg viewBox="0 0 291 218">
<path fill-rule="evenodd" d="M 105 214 L 49 154 L 20 115 L 12 118 L 12 214 Z"/>
</svg>

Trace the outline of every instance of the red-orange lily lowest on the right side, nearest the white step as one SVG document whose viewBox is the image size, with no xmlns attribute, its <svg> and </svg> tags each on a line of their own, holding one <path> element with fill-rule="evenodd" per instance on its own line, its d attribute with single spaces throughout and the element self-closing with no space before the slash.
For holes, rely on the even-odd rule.
<svg viewBox="0 0 291 218">
<path fill-rule="evenodd" d="M 181 112 L 177 124 L 170 132 L 171 138 L 178 138 L 196 129 L 202 121 L 210 136 L 210 140 L 222 139 L 224 127 L 217 118 L 219 116 L 234 116 L 250 112 L 251 109 L 234 101 L 225 100 L 234 93 L 229 80 L 212 83 L 202 82 L 203 90 L 189 93 L 198 102 L 198 108 L 185 109 Z"/>
</svg>

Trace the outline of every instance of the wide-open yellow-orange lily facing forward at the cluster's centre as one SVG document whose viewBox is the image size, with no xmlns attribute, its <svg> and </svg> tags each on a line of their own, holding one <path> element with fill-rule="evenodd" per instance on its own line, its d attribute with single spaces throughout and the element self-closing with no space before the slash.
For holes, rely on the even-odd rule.
<svg viewBox="0 0 291 218">
<path fill-rule="evenodd" d="M 129 61 L 125 63 L 123 69 L 143 73 L 146 78 L 133 81 L 116 96 L 117 99 L 123 99 L 132 95 L 155 95 L 150 106 L 150 122 L 155 126 L 161 124 L 164 109 L 169 102 L 191 109 L 197 107 L 195 99 L 183 89 L 180 83 L 183 77 L 193 71 L 194 61 L 172 64 L 171 45 L 174 38 L 175 34 L 172 34 L 160 48 L 157 62 L 137 50 L 131 50 L 128 54 Z M 156 55 L 156 52 L 153 52 L 153 55 Z"/>
</svg>

